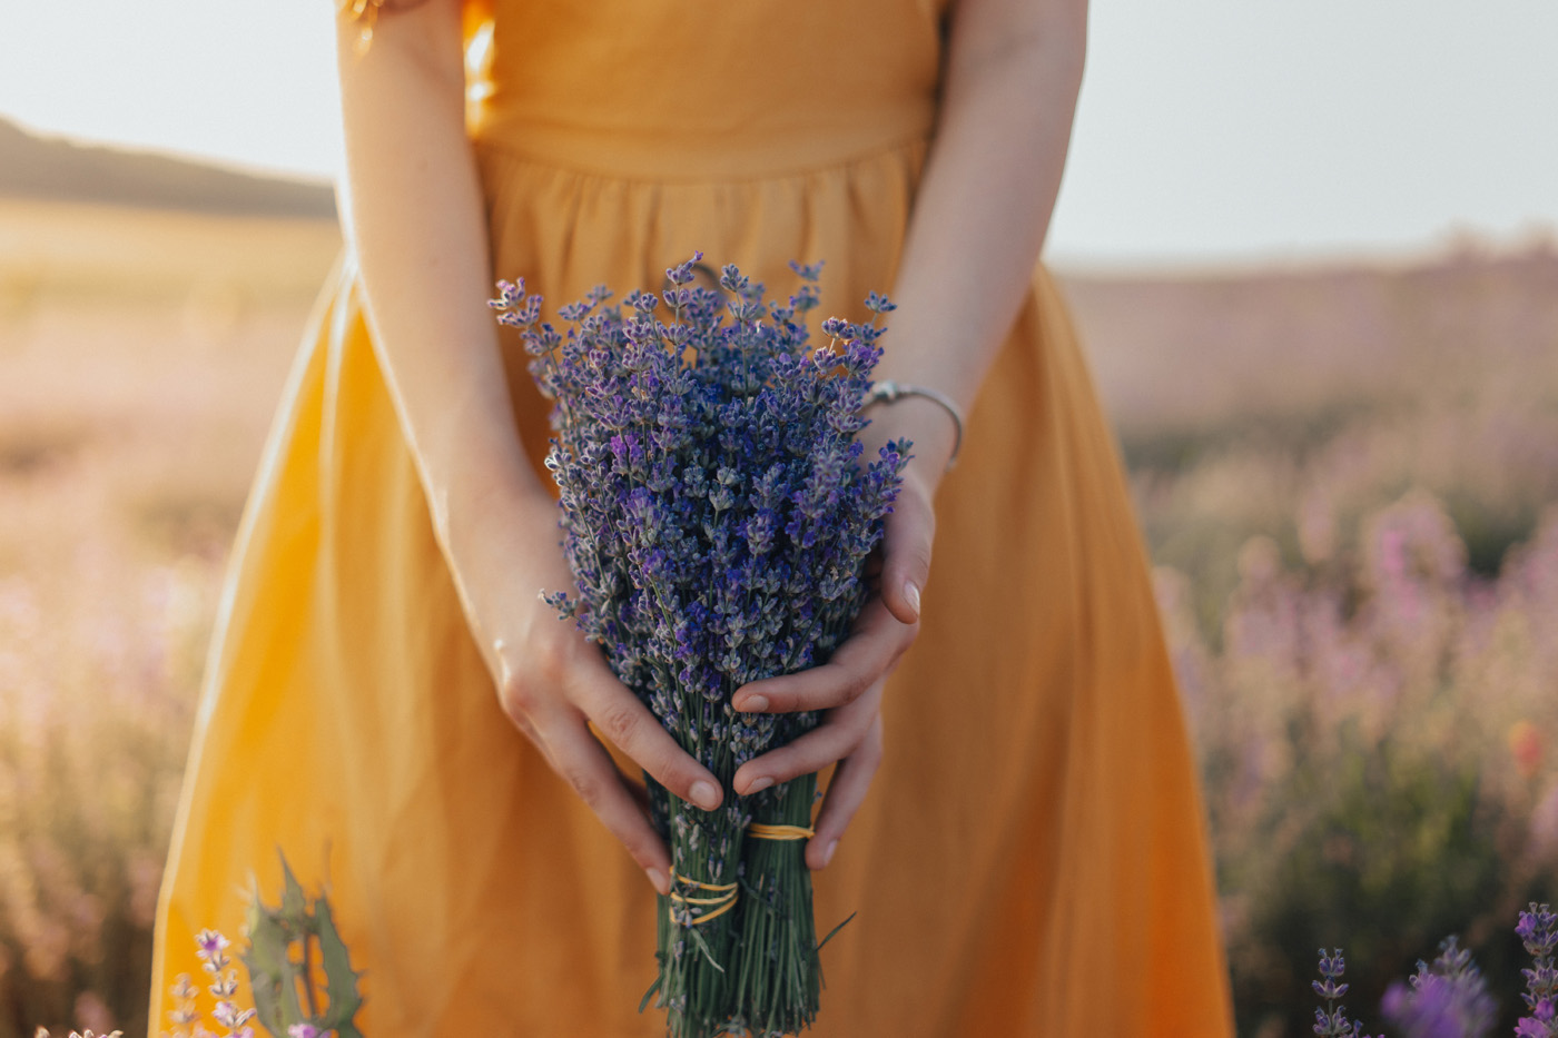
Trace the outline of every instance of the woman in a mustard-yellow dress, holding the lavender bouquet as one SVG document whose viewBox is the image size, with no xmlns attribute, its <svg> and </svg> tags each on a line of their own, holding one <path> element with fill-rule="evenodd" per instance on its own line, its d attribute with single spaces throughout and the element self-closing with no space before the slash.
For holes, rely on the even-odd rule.
<svg viewBox="0 0 1558 1038">
<path fill-rule="evenodd" d="M 538 600 L 569 584 L 547 408 L 485 301 L 654 288 L 703 249 L 771 288 L 826 260 L 824 313 L 891 288 L 877 376 L 935 391 L 872 410 L 916 457 L 857 634 L 737 697 L 827 711 L 734 781 L 837 762 L 805 857 L 820 924 L 858 916 L 816 1032 L 1226 1033 L 1145 560 L 1038 267 L 1083 0 L 494 6 L 469 125 L 485 11 L 390 3 L 366 50 L 341 17 L 355 259 L 240 535 L 156 991 L 238 929 L 246 876 L 274 893 L 280 848 L 329 884 L 368 1035 L 661 1032 L 668 856 L 622 773 L 732 790 Z"/>
</svg>

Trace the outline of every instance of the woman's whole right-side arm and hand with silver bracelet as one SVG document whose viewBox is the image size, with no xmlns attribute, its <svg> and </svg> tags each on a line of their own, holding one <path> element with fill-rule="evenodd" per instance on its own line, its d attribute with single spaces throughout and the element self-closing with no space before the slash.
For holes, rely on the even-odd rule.
<svg viewBox="0 0 1558 1038">
<path fill-rule="evenodd" d="M 941 111 L 893 293 L 879 379 L 938 388 L 964 410 L 1005 341 L 1049 232 L 1070 142 L 1087 33 L 1086 0 L 960 0 Z M 840 762 L 807 846 L 823 868 L 882 756 L 882 684 L 919 627 L 930 574 L 932 500 L 955 429 L 939 404 L 879 405 L 868 455 L 907 438 L 915 460 L 883 536 L 882 595 L 821 667 L 742 689 L 737 709 L 827 709 L 823 725 L 745 764 L 740 793 Z M 754 701 L 757 700 L 757 701 Z"/>
</svg>

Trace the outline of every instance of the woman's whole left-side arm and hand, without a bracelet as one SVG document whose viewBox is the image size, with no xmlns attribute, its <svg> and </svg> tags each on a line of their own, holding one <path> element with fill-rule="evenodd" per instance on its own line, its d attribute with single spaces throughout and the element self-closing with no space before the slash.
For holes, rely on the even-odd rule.
<svg viewBox="0 0 1558 1038">
<path fill-rule="evenodd" d="M 374 348 L 477 644 L 514 723 L 664 893 L 670 857 L 586 720 L 676 795 L 720 786 L 538 592 L 572 586 L 556 503 L 519 443 L 486 299 L 492 276 L 464 129 L 460 0 L 338 20 L 346 224 Z"/>
</svg>

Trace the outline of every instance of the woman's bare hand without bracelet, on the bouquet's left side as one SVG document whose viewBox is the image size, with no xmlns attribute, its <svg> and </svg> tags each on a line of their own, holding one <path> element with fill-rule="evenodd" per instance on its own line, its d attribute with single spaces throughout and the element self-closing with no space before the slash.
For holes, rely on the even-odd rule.
<svg viewBox="0 0 1558 1038">
<path fill-rule="evenodd" d="M 687 754 L 611 672 L 600 648 L 541 592 L 573 588 L 558 544 L 558 507 L 544 494 L 450 516 L 447 555 L 503 711 L 605 823 L 661 893 L 670 853 L 650 824 L 640 787 L 600 743 L 595 726 L 676 796 L 714 810 L 715 776 Z"/>
</svg>

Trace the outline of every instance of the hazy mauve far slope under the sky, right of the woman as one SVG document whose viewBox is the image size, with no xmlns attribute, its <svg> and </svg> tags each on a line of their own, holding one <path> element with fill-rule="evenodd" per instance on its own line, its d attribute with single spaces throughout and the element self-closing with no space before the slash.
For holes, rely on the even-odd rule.
<svg viewBox="0 0 1558 1038">
<path fill-rule="evenodd" d="M 1558 377 L 1552 240 L 1391 263 L 1058 273 L 1126 446 Z"/>
</svg>

